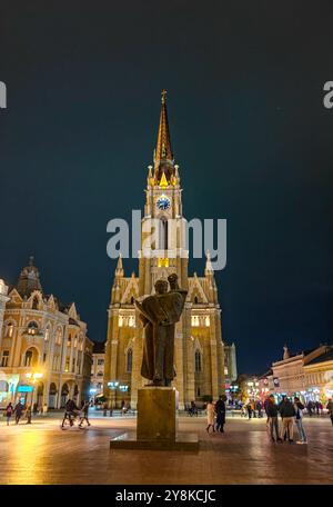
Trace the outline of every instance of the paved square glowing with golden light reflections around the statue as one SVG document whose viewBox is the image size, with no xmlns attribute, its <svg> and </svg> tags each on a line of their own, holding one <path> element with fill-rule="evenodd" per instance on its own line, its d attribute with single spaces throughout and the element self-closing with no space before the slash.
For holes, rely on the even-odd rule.
<svg viewBox="0 0 333 507">
<path fill-rule="evenodd" d="M 60 417 L 60 416 L 59 416 Z M 109 449 L 134 418 L 94 418 L 89 429 L 60 429 L 58 416 L 31 426 L 0 422 L 0 484 L 333 484 L 333 427 L 305 419 L 309 445 L 271 444 L 264 419 L 230 418 L 208 435 L 205 418 L 180 418 L 200 451 Z"/>
</svg>

